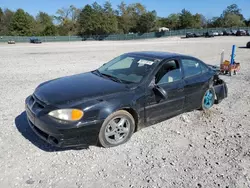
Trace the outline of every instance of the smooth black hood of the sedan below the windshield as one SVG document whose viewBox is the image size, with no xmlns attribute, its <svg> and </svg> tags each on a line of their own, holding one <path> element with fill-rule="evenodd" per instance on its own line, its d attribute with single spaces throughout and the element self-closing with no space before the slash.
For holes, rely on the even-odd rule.
<svg viewBox="0 0 250 188">
<path fill-rule="evenodd" d="M 40 84 L 34 95 L 46 104 L 64 104 L 126 91 L 125 84 L 91 72 L 58 78 Z"/>
</svg>

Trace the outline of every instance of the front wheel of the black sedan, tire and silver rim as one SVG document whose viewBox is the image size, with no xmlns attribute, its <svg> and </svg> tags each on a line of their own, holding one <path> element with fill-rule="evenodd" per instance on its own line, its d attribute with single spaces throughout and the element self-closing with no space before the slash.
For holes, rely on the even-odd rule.
<svg viewBox="0 0 250 188">
<path fill-rule="evenodd" d="M 125 110 L 119 110 L 108 116 L 99 132 L 99 144 L 109 148 L 127 142 L 135 130 L 133 116 Z"/>
</svg>

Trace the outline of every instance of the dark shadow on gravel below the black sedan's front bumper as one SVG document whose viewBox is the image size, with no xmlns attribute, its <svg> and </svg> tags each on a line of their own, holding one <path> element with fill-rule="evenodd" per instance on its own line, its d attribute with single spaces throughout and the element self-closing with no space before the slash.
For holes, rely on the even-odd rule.
<svg viewBox="0 0 250 188">
<path fill-rule="evenodd" d="M 41 138 L 39 138 L 33 130 L 30 128 L 29 123 L 27 121 L 26 112 L 22 112 L 15 118 L 15 125 L 17 130 L 22 134 L 24 138 L 29 140 L 33 145 L 38 147 L 39 149 L 46 152 L 58 152 L 58 151 L 67 151 L 67 150 L 82 150 L 88 149 L 89 146 L 81 147 L 81 148 L 57 148 L 54 147 Z"/>
</svg>

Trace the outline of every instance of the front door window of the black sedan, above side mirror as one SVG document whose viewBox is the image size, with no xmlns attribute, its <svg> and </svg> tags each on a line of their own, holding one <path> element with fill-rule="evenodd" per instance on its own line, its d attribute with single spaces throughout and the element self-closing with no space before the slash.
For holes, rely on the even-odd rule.
<svg viewBox="0 0 250 188">
<path fill-rule="evenodd" d="M 177 60 L 171 60 L 162 65 L 155 75 L 155 84 L 171 83 L 182 79 L 180 65 Z"/>
</svg>

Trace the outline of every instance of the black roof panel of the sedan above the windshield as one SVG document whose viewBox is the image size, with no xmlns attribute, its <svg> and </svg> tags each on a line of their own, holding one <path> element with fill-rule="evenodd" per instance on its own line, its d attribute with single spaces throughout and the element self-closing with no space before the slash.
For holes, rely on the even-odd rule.
<svg viewBox="0 0 250 188">
<path fill-rule="evenodd" d="M 129 52 L 126 55 L 134 55 L 134 56 L 141 56 L 153 59 L 168 59 L 172 57 L 187 57 L 186 55 L 172 53 L 172 52 L 162 52 L 162 51 L 139 51 L 139 52 Z M 189 57 L 189 56 L 188 56 Z"/>
</svg>

